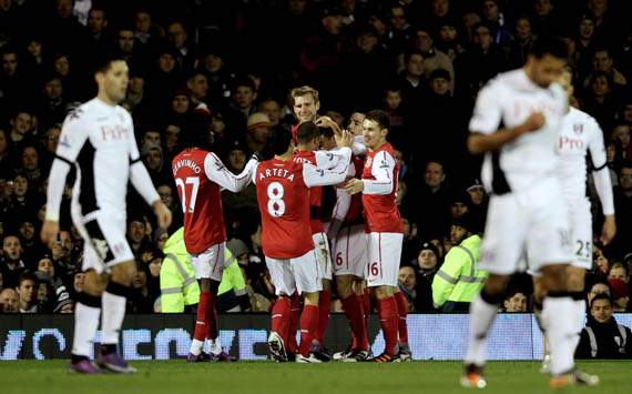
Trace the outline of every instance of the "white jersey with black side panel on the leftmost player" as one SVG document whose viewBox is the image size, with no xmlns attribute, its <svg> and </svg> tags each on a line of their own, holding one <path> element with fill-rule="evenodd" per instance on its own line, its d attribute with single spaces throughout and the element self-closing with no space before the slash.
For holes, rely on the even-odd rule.
<svg viewBox="0 0 632 394">
<path fill-rule="evenodd" d="M 82 215 L 125 216 L 130 164 L 141 160 L 125 109 L 99 99 L 78 107 L 63 122 L 57 156 L 78 170 L 72 200 Z"/>
</svg>

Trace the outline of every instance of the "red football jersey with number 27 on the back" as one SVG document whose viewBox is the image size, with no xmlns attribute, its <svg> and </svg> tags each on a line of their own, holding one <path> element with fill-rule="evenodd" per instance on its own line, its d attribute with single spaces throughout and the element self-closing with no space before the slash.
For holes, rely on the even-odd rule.
<svg viewBox="0 0 632 394">
<path fill-rule="evenodd" d="M 188 253 L 202 253 L 226 241 L 220 185 L 211 181 L 205 161 L 213 153 L 191 148 L 172 161 L 173 178 L 184 212 L 184 243 Z M 221 163 L 221 162 L 220 162 Z"/>
</svg>

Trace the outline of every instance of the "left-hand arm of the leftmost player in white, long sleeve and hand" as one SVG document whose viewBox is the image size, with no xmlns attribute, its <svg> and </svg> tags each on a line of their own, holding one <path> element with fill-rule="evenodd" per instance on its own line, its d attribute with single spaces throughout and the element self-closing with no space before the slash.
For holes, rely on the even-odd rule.
<svg viewBox="0 0 632 394">
<path fill-rule="evenodd" d="M 59 232 L 59 210 L 65 188 L 65 179 L 74 165 L 79 152 L 88 140 L 86 129 L 81 127 L 81 109 L 71 112 L 61 129 L 61 135 L 49 174 L 47 189 L 47 215 L 42 225 L 41 239 L 44 244 L 57 238 Z"/>
</svg>

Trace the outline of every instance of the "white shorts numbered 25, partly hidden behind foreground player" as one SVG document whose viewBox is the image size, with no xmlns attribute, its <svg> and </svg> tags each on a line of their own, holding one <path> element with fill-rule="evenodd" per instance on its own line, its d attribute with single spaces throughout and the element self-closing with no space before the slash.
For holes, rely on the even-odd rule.
<svg viewBox="0 0 632 394">
<path fill-rule="evenodd" d="M 571 215 L 572 266 L 584 270 L 592 269 L 592 213 L 590 212 L 590 201 L 581 199 L 569 201 Z"/>
</svg>

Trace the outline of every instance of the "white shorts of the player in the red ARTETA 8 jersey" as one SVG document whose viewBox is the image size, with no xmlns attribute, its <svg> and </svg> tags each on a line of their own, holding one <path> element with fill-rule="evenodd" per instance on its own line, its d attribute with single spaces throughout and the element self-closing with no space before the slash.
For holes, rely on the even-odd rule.
<svg viewBox="0 0 632 394">
<path fill-rule="evenodd" d="M 276 295 L 292 295 L 294 291 L 316 293 L 323 290 L 320 269 L 314 250 L 295 259 L 273 259 L 265 256 L 272 284 Z"/>
</svg>

